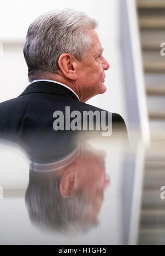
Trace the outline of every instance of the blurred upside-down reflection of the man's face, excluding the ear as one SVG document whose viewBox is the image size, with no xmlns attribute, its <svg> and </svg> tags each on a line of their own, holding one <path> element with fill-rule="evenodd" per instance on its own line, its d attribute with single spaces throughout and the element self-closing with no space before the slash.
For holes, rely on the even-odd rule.
<svg viewBox="0 0 165 256">
<path fill-rule="evenodd" d="M 78 171 L 79 186 L 84 189 L 88 200 L 92 202 L 91 218 L 97 218 L 103 203 L 103 194 L 109 185 L 106 177 L 106 152 L 96 150 L 86 152 Z"/>
</svg>

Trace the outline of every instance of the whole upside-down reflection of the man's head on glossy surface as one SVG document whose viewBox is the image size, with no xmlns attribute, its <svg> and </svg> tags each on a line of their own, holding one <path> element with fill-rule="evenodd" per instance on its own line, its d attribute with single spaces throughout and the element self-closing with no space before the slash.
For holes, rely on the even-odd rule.
<svg viewBox="0 0 165 256">
<path fill-rule="evenodd" d="M 25 201 L 30 219 L 39 227 L 68 233 L 97 225 L 105 175 L 105 153 L 77 148 L 61 161 L 31 164 Z"/>
</svg>

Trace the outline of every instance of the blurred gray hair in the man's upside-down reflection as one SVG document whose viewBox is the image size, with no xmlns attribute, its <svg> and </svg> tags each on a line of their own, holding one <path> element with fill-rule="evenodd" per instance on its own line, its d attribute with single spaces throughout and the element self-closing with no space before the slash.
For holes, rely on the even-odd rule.
<svg viewBox="0 0 165 256">
<path fill-rule="evenodd" d="M 69 233 L 84 233 L 98 225 L 97 220 L 87 220 L 92 212 L 92 202 L 84 189 L 70 198 L 63 198 L 60 191 L 61 177 L 30 170 L 29 186 L 25 203 L 32 223 L 41 230 Z"/>
</svg>

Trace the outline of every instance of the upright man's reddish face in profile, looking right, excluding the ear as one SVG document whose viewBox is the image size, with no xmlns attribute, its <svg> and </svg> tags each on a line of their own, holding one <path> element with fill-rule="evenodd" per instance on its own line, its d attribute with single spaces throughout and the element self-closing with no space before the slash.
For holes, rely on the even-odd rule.
<svg viewBox="0 0 165 256">
<path fill-rule="evenodd" d="M 95 30 L 89 31 L 91 47 L 85 54 L 83 61 L 79 62 L 78 83 L 83 94 L 96 95 L 106 92 L 105 70 L 109 63 L 102 56 L 102 45 Z M 85 98 L 85 97 L 84 97 Z"/>
</svg>

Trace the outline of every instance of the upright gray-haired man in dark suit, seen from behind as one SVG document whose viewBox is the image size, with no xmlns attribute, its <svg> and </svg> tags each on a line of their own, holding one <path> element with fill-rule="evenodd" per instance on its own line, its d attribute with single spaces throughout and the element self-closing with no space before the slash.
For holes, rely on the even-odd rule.
<svg viewBox="0 0 165 256">
<path fill-rule="evenodd" d="M 24 57 L 31 83 L 18 98 L 0 104 L 0 137 L 19 143 L 29 152 L 34 147 L 47 151 L 50 145 L 54 150 L 53 143 L 63 136 L 63 130 L 76 130 L 80 120 L 73 120 L 78 115 L 75 111 L 80 113 L 81 121 L 87 122 L 82 126 L 84 130 L 88 130 L 90 122 L 84 113 L 102 114 L 104 110 L 85 103 L 106 92 L 105 71 L 109 63 L 102 55 L 96 26 L 95 18 L 73 9 L 53 10 L 29 26 Z M 106 123 L 109 114 L 112 113 L 105 111 Z M 93 119 L 93 130 L 98 130 L 97 118 Z M 71 129 L 68 122 L 72 121 Z M 112 124 L 112 135 L 116 127 L 127 134 L 120 115 L 112 114 Z"/>
</svg>

